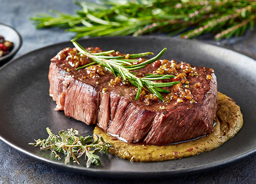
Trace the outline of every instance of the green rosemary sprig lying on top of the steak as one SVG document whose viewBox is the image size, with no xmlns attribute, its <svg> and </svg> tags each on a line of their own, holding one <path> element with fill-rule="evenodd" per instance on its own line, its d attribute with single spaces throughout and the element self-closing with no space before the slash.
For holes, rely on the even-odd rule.
<svg viewBox="0 0 256 184">
<path fill-rule="evenodd" d="M 104 66 L 106 69 L 111 71 L 114 76 L 121 76 L 124 81 L 129 81 L 133 86 L 138 88 L 137 95 L 135 97 L 135 100 L 138 100 L 140 97 L 140 92 L 142 89 L 146 88 L 147 91 L 150 91 L 150 93 L 156 95 L 160 100 L 164 101 L 163 96 L 159 93 L 170 93 L 170 91 L 166 89 L 161 89 L 161 87 L 171 87 L 175 84 L 180 83 L 179 81 L 174 81 L 170 83 L 154 83 L 153 81 L 156 80 L 166 80 L 173 78 L 175 76 L 173 75 L 154 75 L 150 74 L 148 76 L 139 78 L 135 74 L 131 73 L 130 71 L 141 69 L 145 67 L 147 64 L 150 64 L 152 62 L 155 62 L 158 60 L 166 51 L 166 48 L 161 50 L 159 54 L 157 54 L 155 57 L 146 60 L 140 64 L 133 65 L 131 62 L 138 61 L 138 60 L 131 60 L 130 58 L 138 58 L 143 57 L 146 55 L 153 54 L 151 52 L 146 53 L 138 53 L 138 54 L 131 54 L 126 56 L 106 56 L 107 53 L 114 52 L 113 50 L 107 51 L 107 52 L 99 52 L 99 53 L 90 53 L 86 51 L 81 45 L 79 45 L 76 41 L 71 40 L 76 49 L 83 55 L 86 55 L 88 58 L 93 60 L 94 62 L 87 64 L 83 67 L 77 68 L 77 70 L 82 69 L 84 67 L 87 67 L 89 65 L 95 65 L 100 64 Z"/>
</svg>

